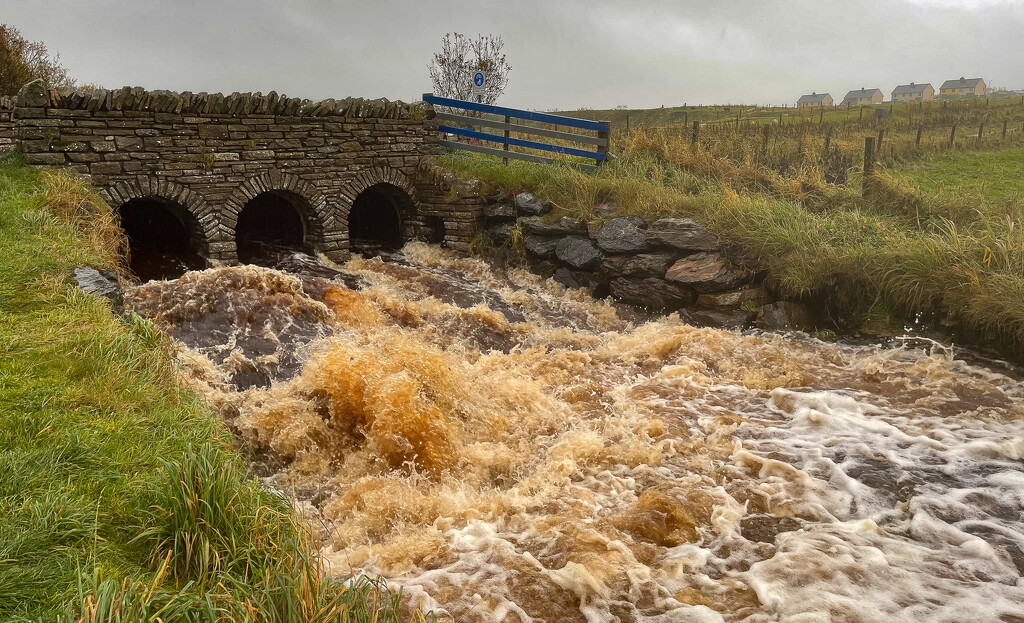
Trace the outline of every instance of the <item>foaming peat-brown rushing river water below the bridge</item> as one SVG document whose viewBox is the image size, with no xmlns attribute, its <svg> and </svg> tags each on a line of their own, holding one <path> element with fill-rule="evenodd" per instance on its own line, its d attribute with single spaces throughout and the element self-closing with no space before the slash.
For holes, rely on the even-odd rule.
<svg viewBox="0 0 1024 623">
<path fill-rule="evenodd" d="M 129 303 L 339 577 L 439 620 L 1024 622 L 1009 366 L 648 320 L 416 243 L 273 263 Z"/>
</svg>

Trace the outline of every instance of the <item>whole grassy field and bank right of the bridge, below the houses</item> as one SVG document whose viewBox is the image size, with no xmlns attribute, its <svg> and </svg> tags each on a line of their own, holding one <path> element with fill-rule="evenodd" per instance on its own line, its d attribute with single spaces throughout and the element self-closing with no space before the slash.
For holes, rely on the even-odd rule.
<svg viewBox="0 0 1024 623">
<path fill-rule="evenodd" d="M 638 118 L 666 125 L 613 128 L 615 158 L 596 174 L 568 162 L 503 166 L 463 154 L 441 162 L 495 192 L 532 191 L 557 213 L 588 220 L 607 202 L 622 214 L 692 217 L 754 252 L 781 293 L 828 301 L 852 330 L 899 331 L 925 319 L 972 340 L 1001 339 L 1019 354 L 1024 107 L 903 108 L 878 122 L 836 111 L 848 116 L 699 125 L 696 140 L 692 127 L 672 122 L 676 113 L 646 112 Z M 874 173 L 865 180 L 864 138 L 880 132 Z"/>
</svg>

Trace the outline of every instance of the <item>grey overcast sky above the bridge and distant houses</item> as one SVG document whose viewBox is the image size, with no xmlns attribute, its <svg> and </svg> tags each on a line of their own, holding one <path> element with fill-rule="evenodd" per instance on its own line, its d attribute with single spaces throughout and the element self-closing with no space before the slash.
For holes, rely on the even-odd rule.
<svg viewBox="0 0 1024 623">
<path fill-rule="evenodd" d="M 783 103 L 982 77 L 1024 88 L 1024 1 L 0 0 L 80 81 L 410 100 L 445 32 L 494 33 L 501 103 Z"/>
</svg>

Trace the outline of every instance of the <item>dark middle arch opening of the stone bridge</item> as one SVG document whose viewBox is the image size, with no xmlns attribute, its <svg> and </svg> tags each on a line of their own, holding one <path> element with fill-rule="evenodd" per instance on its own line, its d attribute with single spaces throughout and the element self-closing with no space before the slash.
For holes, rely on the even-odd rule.
<svg viewBox="0 0 1024 623">
<path fill-rule="evenodd" d="M 287 191 L 253 197 L 239 212 L 234 241 L 242 263 L 267 264 L 283 252 L 308 250 L 305 200 Z"/>
</svg>

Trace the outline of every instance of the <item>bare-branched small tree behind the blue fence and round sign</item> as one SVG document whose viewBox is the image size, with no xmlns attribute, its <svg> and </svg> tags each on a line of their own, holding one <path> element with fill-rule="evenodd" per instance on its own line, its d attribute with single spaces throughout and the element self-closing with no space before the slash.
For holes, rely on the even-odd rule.
<svg viewBox="0 0 1024 623">
<path fill-rule="evenodd" d="M 475 39 L 461 33 L 447 33 L 441 40 L 441 51 L 430 63 L 430 80 L 434 94 L 453 99 L 472 97 L 473 75 L 483 72 L 487 76 L 483 103 L 494 103 L 505 92 L 511 67 L 505 61 L 501 35 L 477 35 Z"/>
</svg>

